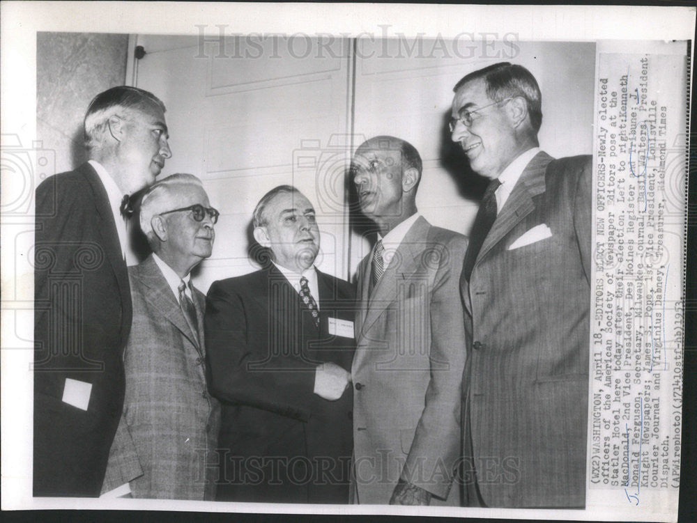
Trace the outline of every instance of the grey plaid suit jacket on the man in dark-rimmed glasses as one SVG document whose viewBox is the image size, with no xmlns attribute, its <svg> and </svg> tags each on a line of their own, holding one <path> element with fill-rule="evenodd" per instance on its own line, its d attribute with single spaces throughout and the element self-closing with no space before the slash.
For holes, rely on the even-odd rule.
<svg viewBox="0 0 697 523">
<path fill-rule="evenodd" d="M 129 267 L 133 324 L 125 401 L 102 493 L 130 483 L 132 497 L 214 499 L 220 404 L 206 387 L 205 297 L 194 289 L 194 336 L 152 256 Z M 199 343 L 200 341 L 200 343 Z"/>
</svg>

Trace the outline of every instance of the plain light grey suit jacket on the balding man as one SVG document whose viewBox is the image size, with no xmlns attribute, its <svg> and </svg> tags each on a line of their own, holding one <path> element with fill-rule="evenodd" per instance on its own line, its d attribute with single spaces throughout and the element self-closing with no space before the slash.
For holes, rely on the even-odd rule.
<svg viewBox="0 0 697 523">
<path fill-rule="evenodd" d="M 466 247 L 463 235 L 420 217 L 370 295 L 373 254 L 358 267 L 353 501 L 387 504 L 400 476 L 448 498 L 461 441 Z"/>
</svg>

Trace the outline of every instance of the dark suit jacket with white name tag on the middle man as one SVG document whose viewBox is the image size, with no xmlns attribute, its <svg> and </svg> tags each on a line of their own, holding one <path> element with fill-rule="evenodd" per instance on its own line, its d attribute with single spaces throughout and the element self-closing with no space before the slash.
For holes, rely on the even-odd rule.
<svg viewBox="0 0 697 523">
<path fill-rule="evenodd" d="M 353 321 L 354 292 L 319 271 L 317 283 L 319 330 L 274 266 L 208 291 L 208 383 L 224 402 L 219 446 L 228 452 L 217 499 L 348 503 L 351 389 L 334 402 L 313 390 L 318 364 L 351 370 L 354 341 L 328 334 L 328 324 Z"/>
</svg>

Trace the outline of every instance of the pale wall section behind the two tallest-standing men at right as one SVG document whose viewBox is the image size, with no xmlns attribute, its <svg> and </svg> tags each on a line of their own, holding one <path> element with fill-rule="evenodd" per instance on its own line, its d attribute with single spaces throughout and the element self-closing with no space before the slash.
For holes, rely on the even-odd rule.
<svg viewBox="0 0 697 523">
<path fill-rule="evenodd" d="M 493 63 L 523 65 L 542 91 L 540 147 L 553 157 L 590 154 L 595 43 L 517 42 L 504 47 L 507 52 L 479 54 L 447 49 L 426 39 L 358 41 L 354 143 L 380 134 L 411 143 L 424 164 L 418 210 L 433 225 L 469 235 L 488 180 L 470 170 L 459 144 L 450 139 L 452 87 Z M 365 237 L 352 236 L 352 271 L 370 249 Z"/>
</svg>

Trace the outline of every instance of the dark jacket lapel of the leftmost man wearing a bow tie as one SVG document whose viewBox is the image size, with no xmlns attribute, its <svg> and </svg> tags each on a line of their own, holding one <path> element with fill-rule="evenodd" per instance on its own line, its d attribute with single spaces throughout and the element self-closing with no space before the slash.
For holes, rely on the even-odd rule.
<svg viewBox="0 0 697 523">
<path fill-rule="evenodd" d="M 95 195 L 95 210 L 97 211 L 97 229 L 101 236 L 100 245 L 105 250 L 107 262 L 112 266 L 118 285 L 118 293 L 121 295 L 121 306 L 123 307 L 124 318 L 132 318 L 132 303 L 130 298 L 130 284 L 128 283 L 128 269 L 126 268 L 121 242 L 118 240 L 118 232 L 114 223 L 114 213 L 109 205 L 107 189 L 102 185 L 102 180 L 90 164 L 83 164 L 79 167 L 80 173 L 89 184 Z M 130 322 L 122 322 L 123 328 L 130 329 Z"/>
</svg>

